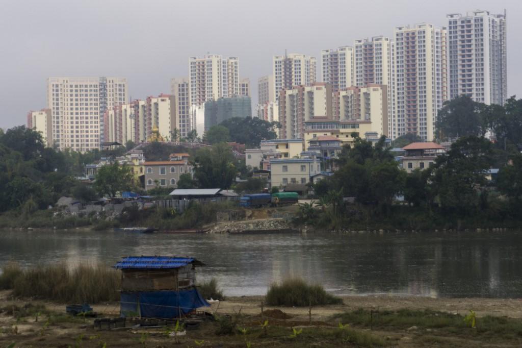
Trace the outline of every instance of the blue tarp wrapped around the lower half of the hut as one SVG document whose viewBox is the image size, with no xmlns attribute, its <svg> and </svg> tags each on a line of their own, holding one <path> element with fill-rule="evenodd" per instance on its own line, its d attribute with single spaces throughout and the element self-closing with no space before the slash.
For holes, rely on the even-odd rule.
<svg viewBox="0 0 522 348">
<path fill-rule="evenodd" d="M 178 318 L 199 307 L 210 306 L 197 289 L 176 291 L 151 291 L 121 293 L 120 315 L 122 317 Z"/>
</svg>

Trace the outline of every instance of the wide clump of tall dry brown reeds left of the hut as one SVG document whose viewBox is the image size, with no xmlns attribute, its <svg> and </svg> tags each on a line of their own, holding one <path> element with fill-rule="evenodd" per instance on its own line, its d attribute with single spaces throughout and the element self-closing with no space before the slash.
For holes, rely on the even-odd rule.
<svg viewBox="0 0 522 348">
<path fill-rule="evenodd" d="M 3 272 L 8 266 L 4 266 Z M 121 275 L 101 263 L 81 264 L 73 268 L 65 263 L 38 265 L 20 270 L 10 283 L 10 288 L 13 295 L 20 297 L 98 303 L 120 298 Z"/>
</svg>

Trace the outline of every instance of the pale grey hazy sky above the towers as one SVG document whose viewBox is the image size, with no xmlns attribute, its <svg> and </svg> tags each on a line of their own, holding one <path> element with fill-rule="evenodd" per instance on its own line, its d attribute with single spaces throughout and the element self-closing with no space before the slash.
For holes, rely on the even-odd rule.
<svg viewBox="0 0 522 348">
<path fill-rule="evenodd" d="M 49 76 L 127 77 L 130 96 L 170 92 L 188 57 L 238 56 L 251 81 L 271 73 L 272 56 L 314 55 L 353 40 L 392 36 L 396 26 L 446 25 L 446 14 L 507 9 L 508 95 L 522 97 L 520 0 L 63 0 L 0 1 L 0 127 L 25 124 L 46 106 Z"/>
</svg>

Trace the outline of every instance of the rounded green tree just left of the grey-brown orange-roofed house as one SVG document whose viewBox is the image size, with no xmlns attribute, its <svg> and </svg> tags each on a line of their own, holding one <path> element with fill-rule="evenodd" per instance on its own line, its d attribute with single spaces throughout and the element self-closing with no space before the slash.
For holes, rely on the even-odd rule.
<svg viewBox="0 0 522 348">
<path fill-rule="evenodd" d="M 117 192 L 131 190 L 134 176 L 131 168 L 120 166 L 117 162 L 98 169 L 94 188 L 101 196 L 116 196 Z"/>
</svg>

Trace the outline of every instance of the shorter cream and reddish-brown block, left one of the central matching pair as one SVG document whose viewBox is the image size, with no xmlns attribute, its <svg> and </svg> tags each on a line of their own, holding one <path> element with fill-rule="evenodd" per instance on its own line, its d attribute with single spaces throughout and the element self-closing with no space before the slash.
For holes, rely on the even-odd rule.
<svg viewBox="0 0 522 348">
<path fill-rule="evenodd" d="M 304 123 L 314 118 L 332 119 L 332 89 L 325 83 L 283 89 L 279 95 L 280 137 L 303 138 Z"/>
</svg>

